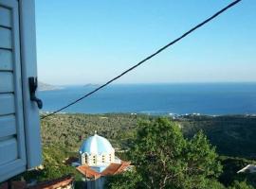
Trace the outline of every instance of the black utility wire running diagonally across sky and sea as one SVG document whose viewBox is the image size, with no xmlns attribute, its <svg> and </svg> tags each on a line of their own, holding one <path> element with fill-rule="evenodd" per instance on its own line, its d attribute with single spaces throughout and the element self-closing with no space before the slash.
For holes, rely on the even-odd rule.
<svg viewBox="0 0 256 189">
<path fill-rule="evenodd" d="M 46 114 L 45 116 L 42 116 L 41 119 L 45 119 L 48 116 L 51 116 L 53 114 L 56 114 L 57 112 L 61 112 L 64 109 L 78 103 L 79 101 L 81 101 L 83 98 L 86 98 L 88 96 L 90 96 L 91 94 L 95 94 L 96 92 L 98 92 L 99 90 L 101 90 L 102 88 L 106 87 L 107 85 L 109 85 L 110 83 L 112 83 L 113 81 L 117 80 L 119 77 L 124 76 L 125 74 L 127 74 L 128 72 L 131 72 L 132 70 L 134 70 L 135 68 L 137 68 L 137 66 L 141 65 L 142 63 L 144 63 L 147 60 L 152 59 L 153 57 L 155 57 L 157 54 L 159 54 L 160 52 L 162 52 L 163 50 L 165 50 L 166 48 L 170 47 L 171 45 L 173 45 L 174 43 L 177 43 L 178 41 L 180 41 L 181 39 L 185 38 L 187 35 L 189 35 L 190 33 L 192 33 L 194 30 L 198 29 L 201 26 L 204 26 L 205 24 L 209 23 L 212 19 L 214 19 L 215 17 L 219 16 L 221 13 L 225 12 L 227 9 L 233 7 L 234 5 L 236 5 L 237 3 L 239 3 L 241 0 L 236 0 L 233 1 L 232 3 L 230 3 L 227 7 L 225 7 L 224 9 L 221 9 L 219 11 L 217 11 L 215 14 L 213 14 L 212 16 L 210 16 L 208 19 L 206 19 L 205 21 L 203 21 L 202 23 L 198 24 L 197 26 L 193 26 L 192 29 L 190 29 L 189 31 L 185 32 L 184 34 L 182 34 L 179 38 L 175 39 L 173 42 L 166 44 L 165 46 L 161 47 L 160 49 L 158 49 L 155 53 L 153 53 L 152 55 L 148 56 L 147 58 L 145 58 L 144 60 L 139 61 L 136 65 L 130 67 L 129 69 L 125 70 L 124 72 L 122 72 L 119 76 L 112 78 L 111 80 L 107 81 L 106 83 L 102 84 L 100 87 L 96 88 L 95 90 L 91 91 L 88 94 L 84 94 L 82 97 L 72 101 L 71 103 L 67 104 L 66 106 L 64 106 L 63 108 L 55 111 L 55 112 L 51 112 Z"/>
</svg>

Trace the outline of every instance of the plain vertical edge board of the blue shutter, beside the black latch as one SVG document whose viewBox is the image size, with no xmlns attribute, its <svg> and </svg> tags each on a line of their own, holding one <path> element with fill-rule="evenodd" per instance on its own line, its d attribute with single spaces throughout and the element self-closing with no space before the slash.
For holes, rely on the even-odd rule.
<svg viewBox="0 0 256 189">
<path fill-rule="evenodd" d="M 28 77 L 37 77 L 35 1 L 18 0 L 27 169 L 42 163 L 39 110 L 30 100 Z"/>
</svg>

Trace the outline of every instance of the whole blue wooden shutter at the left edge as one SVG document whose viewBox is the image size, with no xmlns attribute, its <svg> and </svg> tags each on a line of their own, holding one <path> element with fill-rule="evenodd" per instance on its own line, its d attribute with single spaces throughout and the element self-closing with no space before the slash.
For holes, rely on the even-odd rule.
<svg viewBox="0 0 256 189">
<path fill-rule="evenodd" d="M 32 66 L 36 60 L 31 61 L 36 55 L 35 45 L 25 43 L 28 40 L 35 44 L 35 38 L 32 35 L 28 39 L 24 34 L 35 24 L 29 18 L 28 26 L 24 25 L 28 15 L 22 15 L 25 6 L 27 13 L 33 12 L 33 5 L 31 0 L 0 0 L 0 182 L 41 162 L 38 109 L 29 100 L 27 81 L 28 74 L 36 76 L 36 67 Z M 34 50 L 26 52 L 31 47 Z M 30 115 L 34 117 L 29 123 Z"/>
</svg>

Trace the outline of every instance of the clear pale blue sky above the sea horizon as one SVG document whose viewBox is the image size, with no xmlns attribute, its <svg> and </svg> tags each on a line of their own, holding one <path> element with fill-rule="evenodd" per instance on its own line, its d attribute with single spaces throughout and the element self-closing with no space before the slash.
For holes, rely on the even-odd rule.
<svg viewBox="0 0 256 189">
<path fill-rule="evenodd" d="M 231 0 L 36 0 L 39 80 L 99 84 Z M 242 0 L 116 83 L 256 81 L 256 1 Z"/>
</svg>

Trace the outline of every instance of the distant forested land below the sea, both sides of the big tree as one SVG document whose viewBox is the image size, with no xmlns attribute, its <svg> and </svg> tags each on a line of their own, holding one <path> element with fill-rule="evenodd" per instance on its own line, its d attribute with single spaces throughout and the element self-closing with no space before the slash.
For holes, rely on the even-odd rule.
<svg viewBox="0 0 256 189">
<path fill-rule="evenodd" d="M 155 117 L 131 114 L 58 114 L 42 122 L 43 143 L 77 151 L 95 130 L 119 149 L 128 148 L 140 120 Z M 171 118 L 170 118 L 171 119 Z M 187 137 L 203 129 L 220 155 L 256 158 L 256 117 L 253 116 L 182 116 L 174 120 Z"/>
</svg>

